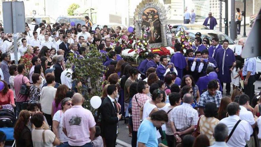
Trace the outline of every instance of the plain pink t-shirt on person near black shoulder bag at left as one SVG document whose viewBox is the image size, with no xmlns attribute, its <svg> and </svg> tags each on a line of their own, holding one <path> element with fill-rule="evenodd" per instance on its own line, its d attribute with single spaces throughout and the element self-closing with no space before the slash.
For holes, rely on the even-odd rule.
<svg viewBox="0 0 261 147">
<path fill-rule="evenodd" d="M 15 76 L 14 87 L 15 87 L 15 101 L 16 102 L 25 102 L 25 101 L 29 100 L 29 97 L 28 97 L 29 95 L 22 95 L 22 94 L 19 93 L 21 85 L 23 84 L 22 80 L 24 81 L 25 84 L 27 82 L 30 83 L 30 80 L 26 76 L 23 76 L 23 75 L 20 75 L 20 74 Z"/>
</svg>

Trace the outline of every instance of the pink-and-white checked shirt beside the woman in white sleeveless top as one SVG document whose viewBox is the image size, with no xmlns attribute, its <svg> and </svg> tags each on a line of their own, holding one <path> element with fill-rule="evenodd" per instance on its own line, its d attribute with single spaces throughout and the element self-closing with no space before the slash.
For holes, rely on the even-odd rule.
<svg viewBox="0 0 261 147">
<path fill-rule="evenodd" d="M 132 123 L 133 123 L 133 131 L 138 131 L 138 128 L 140 126 L 140 107 L 137 104 L 137 101 L 135 99 L 135 97 L 137 98 L 137 101 L 139 103 L 139 105 L 142 107 L 145 102 L 150 99 L 146 94 L 143 93 L 137 93 L 133 96 L 132 98 Z"/>
</svg>

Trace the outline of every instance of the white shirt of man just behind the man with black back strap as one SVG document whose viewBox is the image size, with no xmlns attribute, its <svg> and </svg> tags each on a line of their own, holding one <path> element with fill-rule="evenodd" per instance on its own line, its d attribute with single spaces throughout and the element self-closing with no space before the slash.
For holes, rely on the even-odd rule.
<svg viewBox="0 0 261 147">
<path fill-rule="evenodd" d="M 248 111 L 244 106 L 239 106 L 239 107 L 241 109 L 239 112 L 240 119 L 248 122 L 250 134 L 253 134 L 253 128 L 251 126 L 255 124 L 253 113 L 251 111 Z"/>
</svg>

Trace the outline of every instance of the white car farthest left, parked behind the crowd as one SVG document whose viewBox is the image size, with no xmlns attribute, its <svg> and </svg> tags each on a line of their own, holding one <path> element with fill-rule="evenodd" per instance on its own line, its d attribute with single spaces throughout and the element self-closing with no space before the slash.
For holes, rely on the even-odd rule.
<svg viewBox="0 0 261 147">
<path fill-rule="evenodd" d="M 36 24 L 39 25 L 39 23 L 41 23 L 42 20 L 46 21 L 45 25 L 50 24 L 52 26 L 52 24 L 55 23 L 55 20 L 49 15 L 26 16 L 25 20 L 32 31 L 34 30 L 34 26 Z"/>
</svg>

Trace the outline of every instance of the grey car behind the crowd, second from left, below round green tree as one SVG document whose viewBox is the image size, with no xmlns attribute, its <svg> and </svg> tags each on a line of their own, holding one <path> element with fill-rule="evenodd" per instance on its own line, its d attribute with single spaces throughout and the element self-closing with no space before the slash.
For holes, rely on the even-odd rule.
<svg viewBox="0 0 261 147">
<path fill-rule="evenodd" d="M 72 15 L 72 16 L 59 16 L 56 20 L 57 23 L 71 23 L 74 22 L 75 25 L 77 25 L 77 23 L 80 23 L 81 25 L 85 25 L 85 17 L 84 16 L 80 16 L 80 15 Z M 92 20 L 89 20 L 91 23 Z"/>
</svg>

